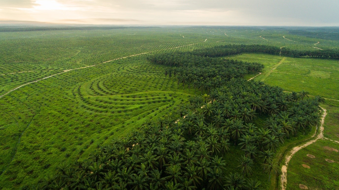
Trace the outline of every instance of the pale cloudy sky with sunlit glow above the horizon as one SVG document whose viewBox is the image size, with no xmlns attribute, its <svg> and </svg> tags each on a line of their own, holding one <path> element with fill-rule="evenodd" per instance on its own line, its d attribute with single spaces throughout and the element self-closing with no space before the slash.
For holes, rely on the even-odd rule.
<svg viewBox="0 0 339 190">
<path fill-rule="evenodd" d="M 339 0 L 0 0 L 0 23 L 339 26 Z"/>
</svg>

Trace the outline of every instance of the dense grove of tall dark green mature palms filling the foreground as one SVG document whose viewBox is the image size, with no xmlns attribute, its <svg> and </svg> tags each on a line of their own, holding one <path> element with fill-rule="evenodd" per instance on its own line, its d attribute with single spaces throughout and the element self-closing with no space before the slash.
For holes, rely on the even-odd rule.
<svg viewBox="0 0 339 190">
<path fill-rule="evenodd" d="M 207 93 L 101 146 L 85 161 L 61 165 L 33 189 L 260 189 L 251 175 L 254 163 L 268 173 L 262 180 L 270 180 L 278 171 L 277 147 L 319 123 L 321 97 L 242 79 L 261 64 L 196 52 L 158 54 L 149 61 L 171 66 L 166 76 Z M 256 126 L 257 117 L 267 118 L 265 124 Z M 241 172 L 225 172 L 223 156 L 231 146 L 244 152 L 232 160 Z"/>
</svg>

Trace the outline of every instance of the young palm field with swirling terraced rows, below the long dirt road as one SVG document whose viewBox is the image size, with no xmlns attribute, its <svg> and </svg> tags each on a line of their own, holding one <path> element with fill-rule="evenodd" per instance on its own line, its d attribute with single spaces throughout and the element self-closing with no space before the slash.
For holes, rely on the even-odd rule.
<svg viewBox="0 0 339 190">
<path fill-rule="evenodd" d="M 191 92 L 165 80 L 145 56 L 68 71 L 1 98 L 1 186 L 37 183 L 60 163 L 187 102 Z"/>
</svg>

